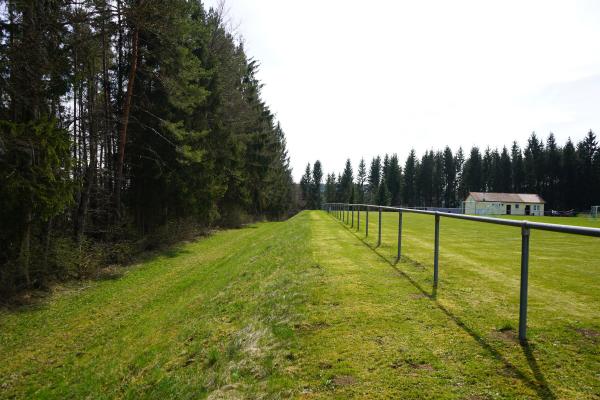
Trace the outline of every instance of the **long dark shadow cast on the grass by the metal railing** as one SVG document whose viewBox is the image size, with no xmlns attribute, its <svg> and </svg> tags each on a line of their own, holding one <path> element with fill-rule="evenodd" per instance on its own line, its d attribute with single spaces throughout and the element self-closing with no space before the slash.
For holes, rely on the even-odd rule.
<svg viewBox="0 0 600 400">
<path fill-rule="evenodd" d="M 337 220 L 335 217 L 333 217 L 333 218 L 335 220 Z M 385 255 L 381 254 L 380 252 L 377 251 L 377 248 L 379 246 L 368 243 L 365 240 L 365 238 L 357 235 L 356 231 L 351 229 L 348 225 L 346 225 L 345 223 L 343 223 L 339 220 L 338 220 L 338 222 L 341 225 L 343 225 L 352 235 L 354 235 L 354 237 L 359 239 L 366 247 L 368 247 L 370 250 L 372 250 L 373 253 L 375 253 L 379 258 L 381 258 L 383 261 L 385 261 L 387 264 L 389 264 L 400 276 L 402 276 L 403 278 L 408 280 L 419 292 L 421 292 L 421 294 L 423 294 L 423 296 L 429 298 L 440 311 L 442 311 L 459 328 L 461 328 L 469 336 L 471 336 L 492 357 L 494 357 L 496 360 L 503 363 L 505 369 L 510 371 L 515 377 L 519 378 L 521 381 L 523 381 L 523 383 L 525 383 L 532 390 L 534 390 L 541 399 L 545 399 L 545 400 L 556 399 L 556 395 L 550 389 L 550 386 L 548 385 L 548 382 L 546 381 L 546 378 L 545 378 L 544 374 L 542 373 L 542 371 L 537 363 L 537 360 L 535 359 L 531 345 L 529 345 L 528 343 L 525 343 L 525 344 L 521 345 L 521 347 L 523 349 L 523 354 L 524 354 L 525 358 L 527 359 L 527 363 L 529 364 L 529 368 L 531 369 L 531 372 L 533 373 L 534 379 L 532 379 L 530 376 L 528 376 L 527 373 L 520 370 L 517 366 L 513 365 L 496 348 L 494 348 L 488 341 L 486 341 L 484 337 L 479 335 L 475 330 L 473 330 L 472 328 L 467 326 L 458 316 L 456 316 L 455 314 L 450 312 L 450 310 L 448 310 L 446 307 L 444 307 L 442 304 L 440 304 L 439 301 L 437 300 L 437 286 L 433 286 L 431 292 L 429 292 L 428 290 L 423 288 L 417 281 L 415 281 L 410 275 L 408 275 L 406 272 L 404 272 L 400 268 L 398 268 L 397 264 L 399 263 L 399 260 L 396 260 L 395 258 L 390 259 L 390 258 L 386 257 Z M 402 256 L 402 261 L 422 267 L 422 268 L 426 267 L 425 265 L 419 263 L 418 261 L 412 260 L 411 258 L 406 257 L 406 256 Z"/>
</svg>

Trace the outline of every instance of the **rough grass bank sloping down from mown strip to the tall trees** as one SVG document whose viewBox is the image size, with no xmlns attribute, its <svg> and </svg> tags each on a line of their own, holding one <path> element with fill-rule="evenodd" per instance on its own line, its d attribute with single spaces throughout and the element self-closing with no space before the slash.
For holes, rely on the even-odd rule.
<svg viewBox="0 0 600 400">
<path fill-rule="evenodd" d="M 281 392 L 311 274 L 307 215 L 219 232 L 114 281 L 0 314 L 0 397 Z"/>
</svg>

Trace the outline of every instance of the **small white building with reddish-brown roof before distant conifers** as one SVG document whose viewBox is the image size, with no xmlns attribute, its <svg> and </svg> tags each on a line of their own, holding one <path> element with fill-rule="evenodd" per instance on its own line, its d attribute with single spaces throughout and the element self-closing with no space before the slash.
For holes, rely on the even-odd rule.
<svg viewBox="0 0 600 400">
<path fill-rule="evenodd" d="M 470 192 L 465 214 L 544 215 L 544 199 L 537 194 Z"/>
</svg>

